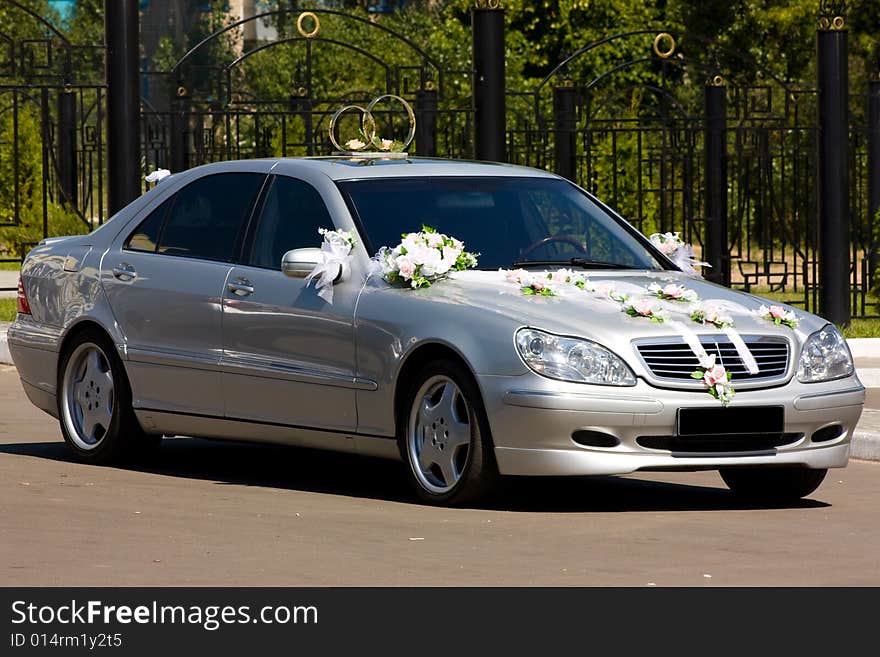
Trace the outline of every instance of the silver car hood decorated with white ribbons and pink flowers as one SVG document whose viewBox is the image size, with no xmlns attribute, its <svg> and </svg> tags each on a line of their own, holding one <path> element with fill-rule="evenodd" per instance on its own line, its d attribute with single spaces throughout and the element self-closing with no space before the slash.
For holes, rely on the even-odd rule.
<svg viewBox="0 0 880 657">
<path fill-rule="evenodd" d="M 787 326 L 777 326 L 754 313 L 762 303 L 770 305 L 770 301 L 681 272 L 603 271 L 590 273 L 589 279 L 612 285 L 615 290 L 631 297 L 644 294 L 644 288 L 651 283 L 679 283 L 695 290 L 700 299 L 724 308 L 735 321 L 735 329 L 743 335 L 779 335 L 799 344 L 806 336 L 827 323 L 803 310 L 772 302 L 793 310 L 800 319 L 799 326 L 794 330 Z M 405 290 L 402 292 L 412 294 Z M 630 317 L 622 312 L 620 304 L 598 299 L 596 295 L 573 286 L 564 286 L 558 296 L 527 296 L 522 294 L 516 284 L 506 282 L 499 272 L 456 272 L 448 280 L 418 292 L 422 293 L 427 293 L 426 296 L 437 303 L 454 303 L 470 306 L 482 313 L 501 314 L 521 326 L 585 337 L 616 348 L 621 353 L 628 352 L 625 347 L 632 340 L 677 337 L 682 334 L 683 327 L 699 334 L 721 333 L 711 326 L 701 326 L 693 322 L 688 311 L 691 304 L 658 300 L 657 303 L 667 310 L 672 320 L 658 323 L 646 318 Z"/>
</svg>

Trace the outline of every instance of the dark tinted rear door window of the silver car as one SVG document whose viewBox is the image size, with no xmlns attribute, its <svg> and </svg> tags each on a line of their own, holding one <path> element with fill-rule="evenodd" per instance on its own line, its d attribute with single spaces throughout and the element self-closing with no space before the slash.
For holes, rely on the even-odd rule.
<svg viewBox="0 0 880 657">
<path fill-rule="evenodd" d="M 159 253 L 230 261 L 266 176 L 219 173 L 184 187 L 159 240 Z"/>
</svg>

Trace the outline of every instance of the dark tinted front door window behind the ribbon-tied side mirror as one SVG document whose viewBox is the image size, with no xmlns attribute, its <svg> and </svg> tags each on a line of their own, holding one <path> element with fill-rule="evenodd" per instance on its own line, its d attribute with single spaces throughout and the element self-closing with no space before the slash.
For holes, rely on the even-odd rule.
<svg viewBox="0 0 880 657">
<path fill-rule="evenodd" d="M 333 220 L 318 191 L 302 180 L 278 176 L 266 195 L 250 264 L 280 269 L 287 251 L 321 245 L 319 228 L 333 228 Z"/>
</svg>

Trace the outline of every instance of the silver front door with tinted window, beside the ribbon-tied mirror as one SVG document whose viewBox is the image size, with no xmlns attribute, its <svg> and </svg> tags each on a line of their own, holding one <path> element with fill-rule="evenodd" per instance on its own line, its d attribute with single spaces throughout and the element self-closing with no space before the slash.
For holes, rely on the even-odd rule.
<svg viewBox="0 0 880 657">
<path fill-rule="evenodd" d="M 230 419 L 354 431 L 353 316 L 362 281 L 336 285 L 333 303 L 314 284 L 281 273 L 290 249 L 318 247 L 333 228 L 309 183 L 274 176 L 223 298 L 223 387 Z"/>
</svg>

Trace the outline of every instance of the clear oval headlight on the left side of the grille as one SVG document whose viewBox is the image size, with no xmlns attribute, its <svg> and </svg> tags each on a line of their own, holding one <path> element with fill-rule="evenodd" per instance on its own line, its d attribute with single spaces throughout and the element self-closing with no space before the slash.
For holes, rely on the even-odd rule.
<svg viewBox="0 0 880 657">
<path fill-rule="evenodd" d="M 589 340 L 524 328 L 516 332 L 516 348 L 526 365 L 551 379 L 604 386 L 636 384 L 620 357 Z"/>
</svg>

